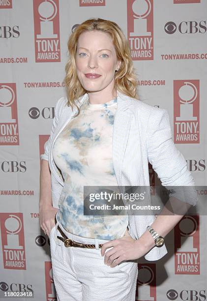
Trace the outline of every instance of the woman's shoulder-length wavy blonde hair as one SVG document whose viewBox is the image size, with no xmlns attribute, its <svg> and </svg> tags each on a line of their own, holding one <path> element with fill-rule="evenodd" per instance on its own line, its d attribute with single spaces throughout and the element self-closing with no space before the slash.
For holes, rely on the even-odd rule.
<svg viewBox="0 0 207 301">
<path fill-rule="evenodd" d="M 76 99 L 78 100 L 81 96 L 87 93 L 87 90 L 85 90 L 81 85 L 76 73 L 75 57 L 78 38 L 81 33 L 94 30 L 106 32 L 111 36 L 116 50 L 117 59 L 121 60 L 120 68 L 115 72 L 114 90 L 118 90 L 129 97 L 138 98 L 137 76 L 131 59 L 130 47 L 123 31 L 119 28 L 117 23 L 113 21 L 91 18 L 76 27 L 76 29 L 71 33 L 67 43 L 69 59 L 65 65 L 64 84 L 68 99 L 67 105 L 71 106 L 72 110 L 74 107 L 78 109 L 78 114 L 76 116 L 80 113 L 79 107 L 76 104 Z"/>
</svg>

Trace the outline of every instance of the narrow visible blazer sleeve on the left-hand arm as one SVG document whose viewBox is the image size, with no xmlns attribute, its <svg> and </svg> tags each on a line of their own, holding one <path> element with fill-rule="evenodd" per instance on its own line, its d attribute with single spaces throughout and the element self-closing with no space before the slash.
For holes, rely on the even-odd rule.
<svg viewBox="0 0 207 301">
<path fill-rule="evenodd" d="M 40 155 L 40 159 L 44 159 L 44 160 L 49 161 L 48 154 L 49 154 L 50 144 L 51 144 L 51 141 L 53 139 L 56 127 L 58 125 L 59 115 L 60 115 L 59 105 L 60 105 L 60 102 L 62 101 L 63 98 L 64 97 L 59 98 L 59 100 L 56 103 L 56 106 L 55 106 L 55 116 L 54 116 L 54 119 L 53 119 L 53 125 L 52 125 L 52 128 L 51 128 L 51 131 L 50 131 L 50 137 L 49 137 L 48 141 L 44 145 L 44 153 Z"/>
</svg>

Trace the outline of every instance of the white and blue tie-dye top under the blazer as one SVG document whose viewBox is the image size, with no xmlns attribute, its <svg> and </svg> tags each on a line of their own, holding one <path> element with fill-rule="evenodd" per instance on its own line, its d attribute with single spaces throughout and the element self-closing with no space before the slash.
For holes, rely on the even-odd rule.
<svg viewBox="0 0 207 301">
<path fill-rule="evenodd" d="M 118 186 L 112 163 L 116 109 L 117 98 L 102 104 L 85 101 L 54 144 L 53 158 L 64 178 L 57 219 L 75 235 L 115 240 L 128 225 L 128 215 L 84 215 L 84 185 Z"/>
</svg>

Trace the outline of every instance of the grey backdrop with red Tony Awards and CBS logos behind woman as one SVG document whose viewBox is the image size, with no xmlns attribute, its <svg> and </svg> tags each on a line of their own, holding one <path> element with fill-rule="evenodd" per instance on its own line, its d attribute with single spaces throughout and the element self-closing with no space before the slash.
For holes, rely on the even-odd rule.
<svg viewBox="0 0 207 301">
<path fill-rule="evenodd" d="M 2 300 L 8 292 L 57 300 L 50 241 L 39 226 L 40 154 L 65 95 L 68 37 L 92 17 L 121 27 L 139 98 L 168 110 L 177 149 L 196 185 L 207 184 L 207 0 L 0 0 Z M 150 166 L 149 175 L 156 185 Z M 206 230 L 205 214 L 185 215 L 165 239 L 165 257 L 139 260 L 136 301 L 207 300 Z"/>
</svg>

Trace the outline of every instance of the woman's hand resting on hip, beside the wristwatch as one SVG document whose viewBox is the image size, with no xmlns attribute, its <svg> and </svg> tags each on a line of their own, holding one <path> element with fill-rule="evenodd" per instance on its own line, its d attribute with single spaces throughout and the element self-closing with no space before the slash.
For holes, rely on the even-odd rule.
<svg viewBox="0 0 207 301">
<path fill-rule="evenodd" d="M 107 248 L 111 248 L 106 251 Z M 139 240 L 131 236 L 123 236 L 117 240 L 105 242 L 101 248 L 101 255 L 104 256 L 104 263 L 111 268 L 126 260 L 138 259 L 144 256 L 149 250 Z"/>
</svg>

